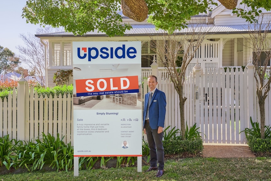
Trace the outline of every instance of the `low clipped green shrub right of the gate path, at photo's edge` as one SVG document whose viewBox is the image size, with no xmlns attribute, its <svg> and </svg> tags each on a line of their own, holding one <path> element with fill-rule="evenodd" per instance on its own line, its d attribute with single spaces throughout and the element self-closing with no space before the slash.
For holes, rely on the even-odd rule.
<svg viewBox="0 0 271 181">
<path fill-rule="evenodd" d="M 270 155 L 271 156 L 271 138 L 257 138 L 255 136 L 248 135 L 246 137 L 247 144 L 250 150 L 257 155 Z"/>
</svg>

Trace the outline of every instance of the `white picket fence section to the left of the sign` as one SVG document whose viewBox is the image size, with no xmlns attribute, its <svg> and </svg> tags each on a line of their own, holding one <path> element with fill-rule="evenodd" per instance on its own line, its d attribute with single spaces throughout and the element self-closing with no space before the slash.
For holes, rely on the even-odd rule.
<svg viewBox="0 0 271 181">
<path fill-rule="evenodd" d="M 39 98 L 27 82 L 18 86 L 17 95 L 14 88 L 13 94 L 8 99 L 0 101 L 0 137 L 9 134 L 11 139 L 30 141 L 42 138 L 42 133 L 50 133 L 60 139 L 64 136 L 65 143 L 73 144 L 73 101 L 70 96 L 62 98 L 61 94 L 47 95 Z M 22 94 L 21 94 L 22 93 Z"/>
</svg>

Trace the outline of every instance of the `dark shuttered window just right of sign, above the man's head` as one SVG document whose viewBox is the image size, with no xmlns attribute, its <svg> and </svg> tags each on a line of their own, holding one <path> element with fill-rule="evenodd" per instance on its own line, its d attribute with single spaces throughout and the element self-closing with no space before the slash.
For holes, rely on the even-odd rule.
<svg viewBox="0 0 271 181">
<path fill-rule="evenodd" d="M 153 56 L 156 56 L 156 41 L 143 41 L 141 43 L 141 67 L 151 67 Z"/>
</svg>

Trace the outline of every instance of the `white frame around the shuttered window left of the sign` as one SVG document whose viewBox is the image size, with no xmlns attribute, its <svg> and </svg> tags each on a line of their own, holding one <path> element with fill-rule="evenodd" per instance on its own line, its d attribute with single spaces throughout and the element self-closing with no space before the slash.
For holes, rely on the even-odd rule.
<svg viewBox="0 0 271 181">
<path fill-rule="evenodd" d="M 60 50 L 58 53 L 58 65 L 56 65 L 55 62 L 55 45 L 59 44 L 60 45 Z M 64 44 L 69 44 L 70 45 L 70 50 L 68 54 L 65 54 L 64 50 Z M 50 43 L 50 61 L 49 61 L 49 68 L 51 69 L 72 69 L 72 42 L 71 41 L 52 41 Z M 68 56 L 68 59 L 70 59 L 69 64 L 66 65 L 67 61 L 64 61 L 64 57 Z"/>
</svg>

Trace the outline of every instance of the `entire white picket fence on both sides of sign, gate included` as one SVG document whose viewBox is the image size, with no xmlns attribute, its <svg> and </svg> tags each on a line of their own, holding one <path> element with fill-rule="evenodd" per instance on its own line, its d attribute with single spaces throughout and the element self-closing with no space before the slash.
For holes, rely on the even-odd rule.
<svg viewBox="0 0 271 181">
<path fill-rule="evenodd" d="M 223 70 L 223 71 L 221 71 Z M 165 92 L 167 99 L 165 127 L 180 127 L 179 95 L 174 89 L 166 71 L 142 70 L 144 96 L 147 93 L 147 79 L 152 72 L 158 72 L 157 88 Z M 211 81 L 212 80 L 212 81 Z M 196 123 L 204 143 L 246 144 L 245 133 L 239 133 L 253 122 L 259 121 L 253 66 L 245 71 L 194 70 L 185 82 L 185 120 L 188 127 Z M 30 141 L 41 138 L 41 133 L 64 136 L 64 142 L 73 145 L 73 99 L 38 98 L 27 82 L 19 81 L 17 94 L 9 94 L 0 101 L 0 137 L 9 134 L 12 139 Z M 271 125 L 271 95 L 265 104 L 266 125 Z M 206 137 L 205 137 L 206 136 Z"/>
</svg>

